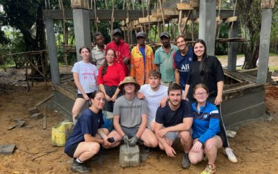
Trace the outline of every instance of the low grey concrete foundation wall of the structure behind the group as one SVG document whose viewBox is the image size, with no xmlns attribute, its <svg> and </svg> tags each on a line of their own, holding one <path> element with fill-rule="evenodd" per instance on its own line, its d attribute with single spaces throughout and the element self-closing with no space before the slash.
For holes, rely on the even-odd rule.
<svg viewBox="0 0 278 174">
<path fill-rule="evenodd" d="M 265 88 L 256 84 L 256 76 L 245 72 L 227 72 L 222 102 L 222 118 L 226 126 L 235 125 L 264 116 Z M 54 104 L 62 113 L 72 119 L 72 106 L 77 89 L 72 81 L 54 86 Z M 84 106 L 85 109 L 86 106 Z"/>
</svg>

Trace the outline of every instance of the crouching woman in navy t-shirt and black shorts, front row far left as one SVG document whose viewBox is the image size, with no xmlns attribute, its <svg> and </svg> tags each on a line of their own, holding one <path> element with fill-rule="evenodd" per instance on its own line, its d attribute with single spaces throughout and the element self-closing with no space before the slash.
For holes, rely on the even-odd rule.
<svg viewBox="0 0 278 174">
<path fill-rule="evenodd" d="M 90 102 L 89 108 L 81 113 L 65 144 L 65 153 L 74 158 L 71 169 L 79 173 L 90 172 L 90 168 L 84 166 L 83 161 L 99 152 L 99 144 L 111 144 L 107 140 L 108 129 L 101 128 L 104 124 L 101 111 L 105 103 L 104 93 L 96 90 L 92 93 Z"/>
</svg>

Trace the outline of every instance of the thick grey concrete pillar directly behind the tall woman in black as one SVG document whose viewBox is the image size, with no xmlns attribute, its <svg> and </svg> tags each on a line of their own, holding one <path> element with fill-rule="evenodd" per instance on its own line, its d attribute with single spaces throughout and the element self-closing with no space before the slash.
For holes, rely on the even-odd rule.
<svg viewBox="0 0 278 174">
<path fill-rule="evenodd" d="M 215 50 L 216 0 L 199 1 L 199 39 L 206 42 L 206 53 L 213 56 Z"/>
</svg>

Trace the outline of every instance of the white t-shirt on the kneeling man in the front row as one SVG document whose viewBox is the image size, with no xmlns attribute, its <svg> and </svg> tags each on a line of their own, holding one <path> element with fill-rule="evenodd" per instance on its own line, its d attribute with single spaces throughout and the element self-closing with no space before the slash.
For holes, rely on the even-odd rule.
<svg viewBox="0 0 278 174">
<path fill-rule="evenodd" d="M 145 96 L 148 107 L 148 121 L 152 121 L 156 118 L 156 110 L 158 109 L 158 104 L 163 98 L 167 97 L 167 86 L 159 86 L 159 89 L 152 90 L 149 84 L 142 85 L 140 87 L 140 93 Z"/>
</svg>

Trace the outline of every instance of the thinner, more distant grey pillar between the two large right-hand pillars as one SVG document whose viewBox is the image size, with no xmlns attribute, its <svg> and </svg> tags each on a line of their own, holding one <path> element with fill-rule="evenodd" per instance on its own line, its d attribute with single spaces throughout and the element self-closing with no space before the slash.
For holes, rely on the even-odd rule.
<svg viewBox="0 0 278 174">
<path fill-rule="evenodd" d="M 235 21 L 233 28 L 229 27 L 229 35 L 231 38 L 238 37 L 238 22 Z M 228 46 L 228 72 L 236 71 L 236 55 L 238 54 L 238 42 L 229 42 Z"/>
</svg>

